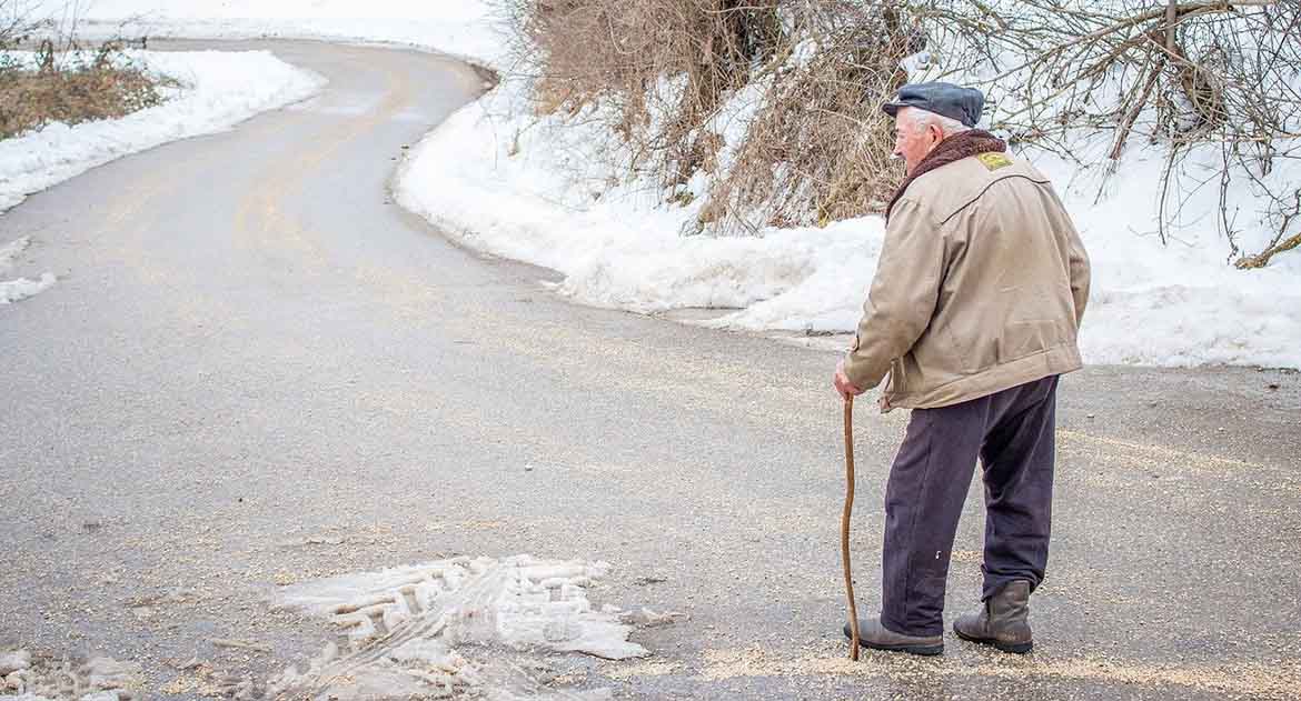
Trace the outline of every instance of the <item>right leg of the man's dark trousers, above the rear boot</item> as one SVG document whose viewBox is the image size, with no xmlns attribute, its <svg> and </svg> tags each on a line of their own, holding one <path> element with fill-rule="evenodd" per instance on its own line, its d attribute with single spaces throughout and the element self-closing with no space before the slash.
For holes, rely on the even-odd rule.
<svg viewBox="0 0 1301 701">
<path fill-rule="evenodd" d="M 1043 581 L 1053 522 L 1056 377 L 1017 388 L 981 449 L 985 481 L 982 600 L 1012 580 Z"/>
</svg>

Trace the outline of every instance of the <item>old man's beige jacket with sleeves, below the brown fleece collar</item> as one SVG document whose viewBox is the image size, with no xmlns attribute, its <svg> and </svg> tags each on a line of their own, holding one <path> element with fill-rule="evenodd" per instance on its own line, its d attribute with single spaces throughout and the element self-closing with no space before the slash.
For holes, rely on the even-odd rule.
<svg viewBox="0 0 1301 701">
<path fill-rule="evenodd" d="M 1080 369 L 1089 259 L 1049 179 L 1003 153 L 922 174 L 895 203 L 844 362 L 882 411 Z"/>
</svg>

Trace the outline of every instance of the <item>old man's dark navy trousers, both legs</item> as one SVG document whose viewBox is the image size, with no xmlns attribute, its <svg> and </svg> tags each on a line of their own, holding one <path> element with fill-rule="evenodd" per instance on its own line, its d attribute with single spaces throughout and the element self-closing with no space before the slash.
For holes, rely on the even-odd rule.
<svg viewBox="0 0 1301 701">
<path fill-rule="evenodd" d="M 912 411 L 886 485 L 881 623 L 943 633 L 945 585 L 977 458 L 985 483 L 982 600 L 1043 580 L 1053 516 L 1058 377 L 960 404 Z"/>
</svg>

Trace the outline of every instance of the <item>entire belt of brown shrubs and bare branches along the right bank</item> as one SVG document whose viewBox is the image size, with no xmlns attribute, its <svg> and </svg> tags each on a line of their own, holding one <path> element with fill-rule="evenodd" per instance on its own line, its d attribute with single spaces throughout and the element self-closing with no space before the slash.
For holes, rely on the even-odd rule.
<svg viewBox="0 0 1301 701">
<path fill-rule="evenodd" d="M 1301 185 L 1275 176 L 1301 161 L 1301 0 L 506 5 L 536 112 L 601 122 L 627 155 L 622 177 L 664 202 L 704 196 L 688 234 L 879 212 L 902 170 L 878 105 L 922 78 L 985 90 L 989 126 L 1017 147 L 1081 159 L 1082 140 L 1106 139 L 1081 163 L 1103 179 L 1127 150 L 1159 152 L 1163 241 L 1188 202 L 1218 192 L 1232 263 L 1301 246 Z M 1237 245 L 1242 191 L 1271 229 L 1257 250 Z"/>
</svg>

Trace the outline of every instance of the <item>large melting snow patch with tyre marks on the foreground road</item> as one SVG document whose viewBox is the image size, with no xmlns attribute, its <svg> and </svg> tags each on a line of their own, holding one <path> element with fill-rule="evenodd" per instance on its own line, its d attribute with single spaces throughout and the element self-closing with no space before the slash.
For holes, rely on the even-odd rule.
<svg viewBox="0 0 1301 701">
<path fill-rule="evenodd" d="M 632 626 L 587 589 L 606 563 L 527 555 L 454 558 L 345 575 L 281 590 L 278 603 L 329 616 L 336 641 L 306 671 L 288 670 L 269 696 L 372 698 L 609 698 L 608 689 L 549 688 L 510 650 L 644 657 Z"/>
</svg>

